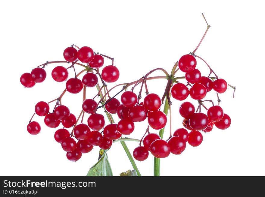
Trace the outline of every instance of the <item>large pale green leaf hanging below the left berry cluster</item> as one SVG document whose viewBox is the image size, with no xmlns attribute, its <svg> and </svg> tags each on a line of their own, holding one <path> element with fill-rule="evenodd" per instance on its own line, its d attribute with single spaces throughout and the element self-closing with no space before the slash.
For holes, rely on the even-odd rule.
<svg viewBox="0 0 265 197">
<path fill-rule="evenodd" d="M 98 162 L 88 171 L 87 176 L 113 176 L 106 152 L 107 150 L 104 150 Z"/>
</svg>

